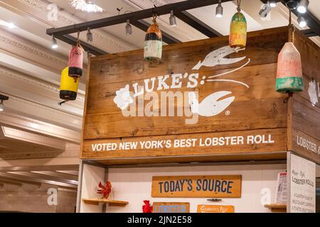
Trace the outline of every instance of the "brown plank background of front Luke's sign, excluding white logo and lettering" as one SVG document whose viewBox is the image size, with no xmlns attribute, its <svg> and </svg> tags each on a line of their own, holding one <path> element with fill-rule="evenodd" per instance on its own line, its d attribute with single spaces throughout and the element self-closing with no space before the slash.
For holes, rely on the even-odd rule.
<svg viewBox="0 0 320 227">
<path fill-rule="evenodd" d="M 209 52 L 228 45 L 228 36 L 166 45 L 162 62 L 156 67 L 149 67 L 148 63 L 144 62 L 142 59 L 143 50 L 92 57 L 90 78 L 88 77 L 89 82 L 87 83 L 81 158 L 98 159 L 97 162 L 105 165 L 284 159 L 284 153 L 287 150 L 287 134 L 289 133 L 287 131 L 289 109 L 287 103 L 284 102 L 287 94 L 275 92 L 274 87 L 277 55 L 284 43 L 287 42 L 287 35 L 287 28 L 248 33 L 246 50 L 228 56 L 247 56 L 247 59 L 250 58 L 250 63 L 246 67 L 223 76 L 223 79 L 245 82 L 249 85 L 249 89 L 238 84 L 206 82 L 202 86 L 198 84 L 196 89 L 187 90 L 186 80 L 182 80 L 184 84 L 181 89 L 171 89 L 172 92 L 199 92 L 200 102 L 209 94 L 218 91 L 231 91 L 230 96 L 235 96 L 235 101 L 225 111 L 213 117 L 198 116 L 198 123 L 193 125 L 186 124 L 186 119 L 190 119 L 191 116 L 124 117 L 113 102 L 115 92 L 126 84 L 134 82 L 142 84 L 144 79 L 165 74 L 199 73 L 199 83 L 203 76 L 208 78 L 208 76 L 233 70 L 243 65 L 247 59 L 233 65 L 217 65 L 191 70 L 199 60 L 203 61 Z M 305 72 L 309 73 L 307 70 Z M 146 101 L 137 102 L 137 106 L 142 106 L 142 104 L 146 104 Z M 177 107 L 179 106 L 176 102 L 168 105 L 169 109 L 176 110 Z M 90 148 L 92 143 L 124 143 L 159 139 L 181 140 L 229 135 L 247 136 L 252 133 L 254 135 L 271 134 L 276 142 L 243 146 L 156 148 L 105 152 L 92 152 Z M 291 137 L 289 138 L 291 139 Z M 221 156 L 218 157 L 218 155 Z"/>
</svg>

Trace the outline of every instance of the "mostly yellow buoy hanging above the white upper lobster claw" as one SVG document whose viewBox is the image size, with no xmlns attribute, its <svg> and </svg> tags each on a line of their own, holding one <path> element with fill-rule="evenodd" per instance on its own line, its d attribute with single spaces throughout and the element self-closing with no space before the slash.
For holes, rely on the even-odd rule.
<svg viewBox="0 0 320 227">
<path fill-rule="evenodd" d="M 247 20 L 240 11 L 231 19 L 229 45 L 235 49 L 245 48 L 247 45 Z"/>
</svg>

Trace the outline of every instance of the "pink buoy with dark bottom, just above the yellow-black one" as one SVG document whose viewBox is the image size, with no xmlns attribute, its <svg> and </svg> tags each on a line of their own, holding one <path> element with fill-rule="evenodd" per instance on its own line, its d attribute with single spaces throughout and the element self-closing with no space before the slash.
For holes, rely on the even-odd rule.
<svg viewBox="0 0 320 227">
<path fill-rule="evenodd" d="M 69 77 L 82 77 L 83 49 L 80 45 L 73 46 L 69 55 Z"/>
</svg>

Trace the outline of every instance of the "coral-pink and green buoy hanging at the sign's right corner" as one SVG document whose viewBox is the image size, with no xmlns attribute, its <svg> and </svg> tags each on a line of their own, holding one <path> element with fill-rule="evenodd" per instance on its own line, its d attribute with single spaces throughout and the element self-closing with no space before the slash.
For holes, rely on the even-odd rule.
<svg viewBox="0 0 320 227">
<path fill-rule="evenodd" d="M 301 56 L 294 43 L 287 42 L 279 53 L 277 66 L 277 92 L 303 91 Z"/>
</svg>

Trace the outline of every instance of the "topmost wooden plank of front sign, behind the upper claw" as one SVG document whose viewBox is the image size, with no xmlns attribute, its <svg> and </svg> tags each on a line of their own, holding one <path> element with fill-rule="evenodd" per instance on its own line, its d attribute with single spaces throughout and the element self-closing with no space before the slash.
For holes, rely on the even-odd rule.
<svg viewBox="0 0 320 227">
<path fill-rule="evenodd" d="M 274 63 L 277 62 L 278 53 L 286 41 L 287 33 L 252 37 L 247 41 L 246 50 L 230 54 L 228 57 L 247 56 L 250 58 L 249 66 Z M 222 48 L 225 45 L 228 45 L 228 36 L 224 36 L 221 41 L 209 39 L 202 40 L 201 44 L 199 43 L 198 45 L 189 43 L 188 46 L 185 45 L 183 48 L 175 45 L 176 48 L 167 50 L 168 46 L 164 46 L 163 64 L 157 67 L 149 67 L 148 62 L 143 60 L 143 50 L 135 51 L 134 55 L 130 52 L 124 52 L 122 56 L 117 58 L 111 55 L 100 61 L 95 60 L 95 57 L 93 57 L 90 68 L 90 74 L 93 77 L 90 80 L 90 84 L 129 82 L 137 79 L 148 79 L 150 75 L 160 76 L 171 73 L 191 73 L 194 72 L 192 68 L 199 60 L 202 61 L 209 52 Z M 238 62 L 231 65 L 231 67 L 240 67 L 241 65 L 242 62 Z M 225 70 L 228 68 L 230 68 L 230 65 L 216 65 L 214 70 Z M 203 74 L 211 70 L 213 69 L 202 67 L 198 72 Z"/>
</svg>

